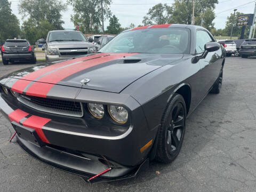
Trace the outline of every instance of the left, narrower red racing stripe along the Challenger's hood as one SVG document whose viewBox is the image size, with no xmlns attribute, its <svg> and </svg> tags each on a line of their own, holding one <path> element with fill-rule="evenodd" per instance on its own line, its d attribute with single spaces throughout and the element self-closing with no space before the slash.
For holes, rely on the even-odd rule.
<svg viewBox="0 0 256 192">
<path fill-rule="evenodd" d="M 28 75 L 25 75 L 24 77 L 21 77 L 17 82 L 15 82 L 12 86 L 12 91 L 22 93 L 22 91 L 29 85 L 30 81 L 35 81 L 36 78 L 38 78 L 46 73 L 49 73 L 52 70 L 58 69 L 60 67 L 65 67 L 65 66 L 70 65 L 75 62 L 79 62 L 79 61 L 83 61 L 83 60 L 87 60 L 87 59 L 93 59 L 93 58 L 97 58 L 97 57 L 102 57 L 105 55 L 107 55 L 107 54 L 100 53 L 100 54 L 89 55 L 87 57 L 81 57 L 81 58 L 77 58 L 77 59 L 67 60 L 67 61 L 59 62 L 59 63 L 53 64 L 53 65 L 44 67 L 42 69 L 38 69 Z M 28 80 L 28 81 L 26 81 L 26 80 Z"/>
</svg>

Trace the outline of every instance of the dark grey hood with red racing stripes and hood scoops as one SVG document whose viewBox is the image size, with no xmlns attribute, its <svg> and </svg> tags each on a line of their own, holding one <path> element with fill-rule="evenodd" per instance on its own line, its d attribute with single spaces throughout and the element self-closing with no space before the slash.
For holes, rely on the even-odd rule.
<svg viewBox="0 0 256 192">
<path fill-rule="evenodd" d="M 19 79 L 12 89 L 23 93 L 33 89 L 41 92 L 44 84 L 50 84 L 51 88 L 57 84 L 119 93 L 140 77 L 164 65 L 174 65 L 182 57 L 183 54 L 99 53 L 44 63 L 10 76 Z"/>
</svg>

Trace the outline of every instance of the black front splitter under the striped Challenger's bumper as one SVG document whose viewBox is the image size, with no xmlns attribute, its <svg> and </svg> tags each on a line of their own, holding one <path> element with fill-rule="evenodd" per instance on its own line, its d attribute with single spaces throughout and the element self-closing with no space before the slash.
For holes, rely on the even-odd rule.
<svg viewBox="0 0 256 192">
<path fill-rule="evenodd" d="M 94 178 L 93 180 L 89 181 L 91 177 L 108 168 L 107 165 L 99 164 L 98 161 L 95 161 L 94 157 L 96 156 L 88 155 L 87 157 L 94 159 L 92 159 L 92 161 L 86 161 L 86 159 L 61 153 L 60 151 L 47 150 L 47 153 L 44 153 L 44 148 L 39 148 L 38 146 L 35 146 L 32 143 L 21 139 L 19 136 L 15 136 L 12 142 L 18 143 L 18 145 L 23 150 L 25 150 L 26 153 L 36 158 L 37 160 L 47 165 L 56 167 L 57 169 L 79 175 L 84 181 L 90 183 L 103 183 L 133 178 L 139 172 L 145 170 L 149 166 L 148 158 L 145 159 L 145 161 L 143 161 L 138 166 L 125 167 L 118 165 L 116 168 L 114 166 L 111 171 L 109 171 L 109 173 L 106 173 L 104 175 L 101 175 L 100 177 Z M 37 151 L 33 149 L 37 149 Z"/>
</svg>

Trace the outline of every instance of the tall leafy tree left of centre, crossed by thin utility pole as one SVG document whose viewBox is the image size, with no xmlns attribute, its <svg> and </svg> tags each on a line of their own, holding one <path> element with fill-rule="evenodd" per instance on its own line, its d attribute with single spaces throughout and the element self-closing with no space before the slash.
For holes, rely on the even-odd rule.
<svg viewBox="0 0 256 192">
<path fill-rule="evenodd" d="M 103 20 L 111 16 L 111 0 L 103 0 Z M 83 33 L 93 34 L 101 32 L 101 0 L 68 0 L 73 6 L 74 14 L 71 21 L 74 25 L 79 25 Z"/>
</svg>

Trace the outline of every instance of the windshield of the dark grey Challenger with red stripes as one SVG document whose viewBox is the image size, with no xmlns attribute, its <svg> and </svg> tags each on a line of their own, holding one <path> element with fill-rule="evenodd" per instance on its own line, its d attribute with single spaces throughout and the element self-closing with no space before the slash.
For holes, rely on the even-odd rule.
<svg viewBox="0 0 256 192">
<path fill-rule="evenodd" d="M 130 30 L 117 35 L 102 53 L 189 53 L 190 30 L 155 28 Z"/>
</svg>

